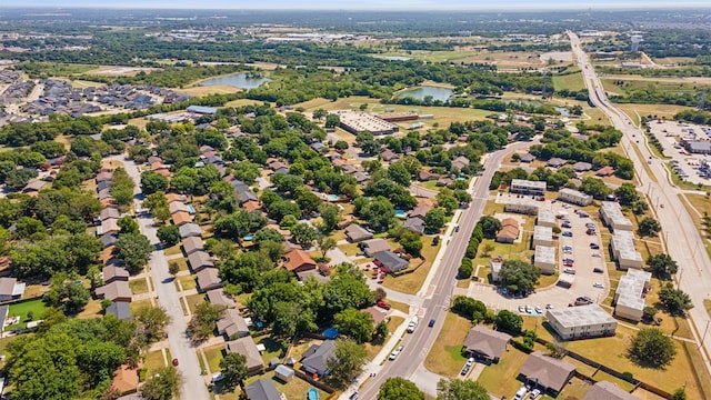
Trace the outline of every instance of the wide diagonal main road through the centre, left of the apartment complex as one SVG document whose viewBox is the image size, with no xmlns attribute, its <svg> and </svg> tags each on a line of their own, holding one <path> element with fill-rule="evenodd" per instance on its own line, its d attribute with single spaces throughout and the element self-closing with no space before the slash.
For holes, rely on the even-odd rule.
<svg viewBox="0 0 711 400">
<path fill-rule="evenodd" d="M 474 224 L 481 218 L 484 204 L 489 197 L 489 183 L 491 177 L 501 164 L 501 161 L 511 152 L 528 148 L 532 142 L 521 142 L 508 146 L 505 149 L 492 152 L 484 162 L 484 172 L 477 179 L 472 191 L 472 202 L 462 214 L 459 232 L 454 233 L 449 243 L 438 276 L 434 277 L 429 288 L 422 288 L 425 299 L 420 310 L 420 324 L 413 333 L 407 333 L 401 342 L 404 347 L 394 361 L 385 361 L 384 367 L 377 377 L 369 379 L 360 389 L 361 399 L 375 399 L 380 386 L 390 377 L 411 377 L 423 363 L 437 336 L 444 323 L 444 316 L 449 309 L 454 288 L 457 287 L 457 270 L 464 257 L 464 251 L 469 244 L 469 238 L 474 230 Z M 428 328 L 430 319 L 435 319 L 437 323 Z M 421 384 L 422 382 L 417 382 Z"/>
</svg>

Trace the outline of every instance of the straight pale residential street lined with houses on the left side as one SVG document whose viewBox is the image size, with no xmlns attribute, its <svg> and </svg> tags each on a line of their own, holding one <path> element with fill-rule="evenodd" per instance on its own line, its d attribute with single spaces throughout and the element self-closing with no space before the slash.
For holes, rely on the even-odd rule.
<svg viewBox="0 0 711 400">
<path fill-rule="evenodd" d="M 114 157 L 114 160 L 123 162 L 126 172 L 136 182 L 134 190 L 134 206 L 136 209 L 141 208 L 141 201 L 143 194 L 141 193 L 141 176 L 136 167 L 136 163 L 130 160 L 124 160 L 122 157 Z M 163 250 L 160 249 L 160 241 L 157 237 L 157 227 L 153 224 L 153 217 L 144 212 L 137 218 L 137 222 L 140 227 L 141 233 L 143 233 L 151 244 L 157 246 L 157 249 L 151 253 L 149 261 L 149 269 L 151 278 L 153 279 L 153 287 L 158 294 L 158 302 L 160 307 L 166 310 L 170 316 L 171 322 L 166 327 L 168 333 L 168 343 L 170 347 L 170 354 L 172 358 L 177 358 L 179 361 L 178 370 L 182 376 L 182 386 L 180 398 L 189 400 L 208 400 L 210 394 L 204 386 L 204 380 L 201 376 L 200 362 L 198 361 L 198 354 L 196 348 L 192 346 L 191 340 L 188 338 L 187 329 L 188 323 L 180 306 L 180 297 L 178 290 L 173 283 L 173 277 L 168 272 L 168 261 Z"/>
</svg>

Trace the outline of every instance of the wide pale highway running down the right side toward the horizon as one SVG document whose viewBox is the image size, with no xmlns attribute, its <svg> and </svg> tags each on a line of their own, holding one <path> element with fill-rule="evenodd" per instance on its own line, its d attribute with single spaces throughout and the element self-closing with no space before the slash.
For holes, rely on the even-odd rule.
<svg viewBox="0 0 711 400">
<path fill-rule="evenodd" d="M 694 224 L 694 219 L 699 217 L 690 216 L 684 208 L 680 199 L 682 190 L 671 182 L 669 169 L 663 160 L 655 158 L 651 152 L 644 133 L 634 127 L 624 112 L 608 100 L 594 68 L 580 46 L 578 36 L 572 32 L 568 32 L 568 36 L 582 71 L 590 101 L 623 133 L 621 143 L 628 158 L 634 163 L 634 172 L 640 181 L 638 190 L 648 196 L 650 208 L 657 213 L 657 219 L 662 226 L 667 252 L 679 264 L 677 274 L 679 288 L 689 293 L 694 304 L 694 308 L 689 311 L 694 328 L 692 331 L 697 341 L 703 347 L 701 353 L 711 373 L 708 356 L 708 349 L 711 347 L 711 333 L 708 332 L 711 329 L 709 328 L 710 318 L 703 307 L 703 299 L 711 299 L 711 260 Z"/>
</svg>

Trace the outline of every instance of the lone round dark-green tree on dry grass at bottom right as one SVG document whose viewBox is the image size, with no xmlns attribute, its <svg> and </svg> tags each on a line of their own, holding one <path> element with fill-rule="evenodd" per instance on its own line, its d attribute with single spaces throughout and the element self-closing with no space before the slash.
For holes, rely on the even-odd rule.
<svg viewBox="0 0 711 400">
<path fill-rule="evenodd" d="M 640 329 L 627 349 L 627 356 L 639 366 L 662 368 L 677 356 L 671 338 L 657 328 Z"/>
</svg>

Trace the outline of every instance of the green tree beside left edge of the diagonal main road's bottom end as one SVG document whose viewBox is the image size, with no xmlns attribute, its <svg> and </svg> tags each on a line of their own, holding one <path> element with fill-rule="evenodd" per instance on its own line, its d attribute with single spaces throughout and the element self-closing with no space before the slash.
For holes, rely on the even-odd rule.
<svg viewBox="0 0 711 400">
<path fill-rule="evenodd" d="M 327 377 L 336 388 L 346 388 L 360 374 L 368 361 L 365 348 L 350 339 L 337 339 L 333 357 L 326 360 Z"/>
</svg>

